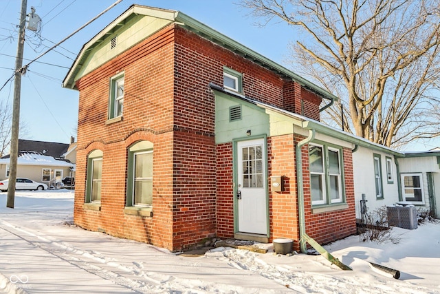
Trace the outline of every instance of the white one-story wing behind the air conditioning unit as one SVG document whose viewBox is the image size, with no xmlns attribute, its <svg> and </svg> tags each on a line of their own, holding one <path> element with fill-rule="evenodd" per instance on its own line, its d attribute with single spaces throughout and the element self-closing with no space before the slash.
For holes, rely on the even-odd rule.
<svg viewBox="0 0 440 294">
<path fill-rule="evenodd" d="M 365 142 L 353 151 L 356 218 L 364 194 L 369 213 L 397 202 L 440 212 L 440 151 L 404 152 Z"/>
</svg>

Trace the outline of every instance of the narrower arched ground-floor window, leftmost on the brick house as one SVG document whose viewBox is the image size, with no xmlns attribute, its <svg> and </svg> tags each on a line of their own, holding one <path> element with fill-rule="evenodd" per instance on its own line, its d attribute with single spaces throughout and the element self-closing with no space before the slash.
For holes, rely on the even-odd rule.
<svg viewBox="0 0 440 294">
<path fill-rule="evenodd" d="M 86 202 L 101 202 L 102 151 L 94 150 L 87 158 Z"/>
</svg>

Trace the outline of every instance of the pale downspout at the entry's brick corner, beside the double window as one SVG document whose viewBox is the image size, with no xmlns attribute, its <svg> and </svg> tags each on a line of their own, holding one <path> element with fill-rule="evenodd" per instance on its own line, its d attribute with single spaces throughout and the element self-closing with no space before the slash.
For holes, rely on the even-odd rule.
<svg viewBox="0 0 440 294">
<path fill-rule="evenodd" d="M 300 249 L 302 253 L 307 253 L 307 246 L 303 235 L 305 235 L 305 208 L 304 208 L 304 187 L 303 187 L 303 160 L 301 156 L 301 147 L 309 143 L 315 138 L 315 130 L 309 129 L 309 136 L 304 140 L 301 140 L 298 145 L 296 145 L 296 182 L 298 189 L 298 213 L 299 213 L 299 224 L 300 224 Z"/>
</svg>

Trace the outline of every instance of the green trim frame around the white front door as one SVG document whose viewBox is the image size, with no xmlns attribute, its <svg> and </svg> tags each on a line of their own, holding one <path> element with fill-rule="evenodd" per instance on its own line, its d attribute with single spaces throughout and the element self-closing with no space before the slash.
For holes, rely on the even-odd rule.
<svg viewBox="0 0 440 294">
<path fill-rule="evenodd" d="M 248 137 L 241 137 L 241 138 L 234 138 L 232 140 L 232 181 L 234 183 L 233 185 L 233 204 L 234 204 L 234 234 L 239 233 L 239 208 L 238 203 L 236 200 L 236 193 L 239 190 L 239 187 L 237 185 L 238 182 L 238 174 L 239 174 L 239 165 L 238 165 L 238 143 L 239 142 L 245 142 L 248 140 L 255 140 L 255 139 L 263 139 L 263 147 L 265 152 L 265 193 L 266 193 L 266 236 L 267 238 L 270 238 L 270 211 L 269 211 L 269 169 L 267 167 L 268 165 L 268 158 L 267 158 L 267 136 L 264 135 L 256 135 L 256 136 L 248 136 Z"/>
</svg>

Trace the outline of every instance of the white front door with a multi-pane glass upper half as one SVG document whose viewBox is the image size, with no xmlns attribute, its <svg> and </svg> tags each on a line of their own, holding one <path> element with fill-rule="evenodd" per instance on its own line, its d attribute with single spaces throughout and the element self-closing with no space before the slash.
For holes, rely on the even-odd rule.
<svg viewBox="0 0 440 294">
<path fill-rule="evenodd" d="M 237 143 L 238 230 L 267 234 L 266 156 L 264 139 Z"/>
</svg>

